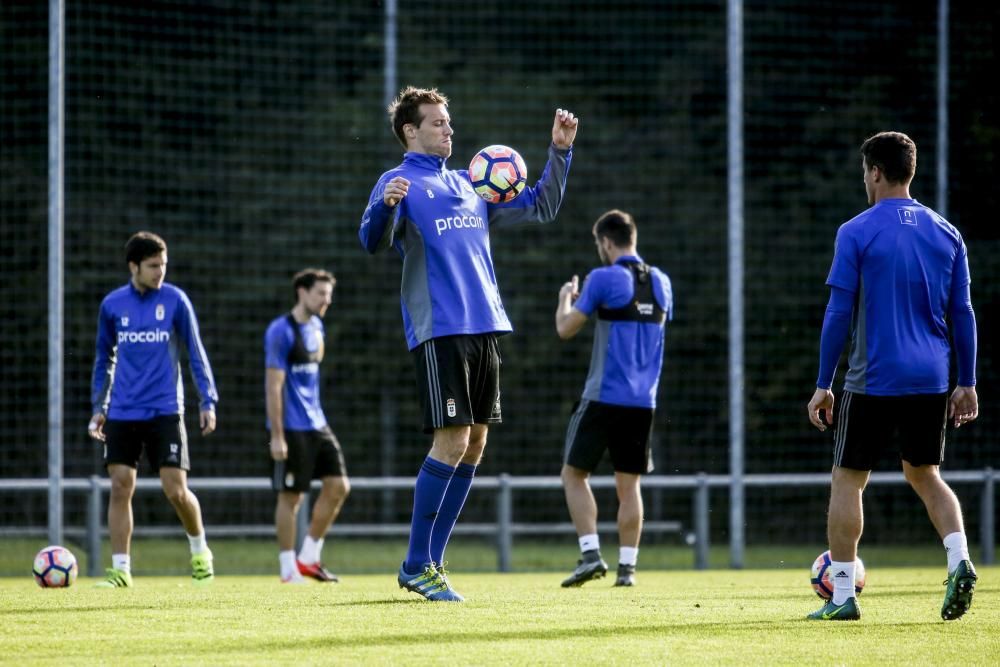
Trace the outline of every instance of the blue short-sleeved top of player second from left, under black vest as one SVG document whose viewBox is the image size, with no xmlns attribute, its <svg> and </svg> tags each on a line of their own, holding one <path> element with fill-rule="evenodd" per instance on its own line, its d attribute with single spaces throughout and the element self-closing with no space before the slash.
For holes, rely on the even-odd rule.
<svg viewBox="0 0 1000 667">
<path fill-rule="evenodd" d="M 264 334 L 264 365 L 285 371 L 283 423 L 289 431 L 318 431 L 327 425 L 319 403 L 319 362 L 323 360 L 323 321 L 316 315 L 292 329 L 289 315 L 271 322 Z M 298 338 L 298 340 L 296 340 Z M 271 422 L 267 421 L 270 430 Z"/>
</svg>

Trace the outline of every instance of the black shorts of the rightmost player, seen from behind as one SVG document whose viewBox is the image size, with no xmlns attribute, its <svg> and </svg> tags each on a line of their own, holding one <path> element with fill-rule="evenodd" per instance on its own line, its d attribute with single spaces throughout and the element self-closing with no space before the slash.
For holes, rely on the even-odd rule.
<svg viewBox="0 0 1000 667">
<path fill-rule="evenodd" d="M 874 470 L 898 435 L 900 458 L 910 465 L 941 465 L 947 394 L 868 396 L 844 391 L 834 410 L 833 463 Z"/>
</svg>

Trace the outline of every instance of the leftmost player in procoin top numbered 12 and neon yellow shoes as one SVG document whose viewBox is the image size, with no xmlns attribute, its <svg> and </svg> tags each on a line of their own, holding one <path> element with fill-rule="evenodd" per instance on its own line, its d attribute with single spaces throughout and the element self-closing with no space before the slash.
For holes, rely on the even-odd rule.
<svg viewBox="0 0 1000 667">
<path fill-rule="evenodd" d="M 212 552 L 205 541 L 201 506 L 187 486 L 191 464 L 184 428 L 181 344 L 187 348 L 198 389 L 203 435 L 215 430 L 219 400 L 215 380 L 190 300 L 178 287 L 164 282 L 167 244 L 156 234 L 138 232 L 125 245 L 125 258 L 131 280 L 101 302 L 94 414 L 87 429 L 92 438 L 104 443 L 104 464 L 111 479 L 112 567 L 98 586 L 132 585 L 132 494 L 143 450 L 188 534 L 194 582 L 210 583 L 214 578 Z"/>
</svg>

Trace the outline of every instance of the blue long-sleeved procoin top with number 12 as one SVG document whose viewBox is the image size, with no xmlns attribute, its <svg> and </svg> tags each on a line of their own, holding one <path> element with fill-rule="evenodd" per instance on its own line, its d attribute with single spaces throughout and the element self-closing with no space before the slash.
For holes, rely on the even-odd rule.
<svg viewBox="0 0 1000 667">
<path fill-rule="evenodd" d="M 202 410 L 219 402 L 198 319 L 187 295 L 163 283 L 140 293 L 131 281 L 101 302 L 91 400 L 108 419 L 184 414 L 179 343 L 187 347 Z"/>
</svg>

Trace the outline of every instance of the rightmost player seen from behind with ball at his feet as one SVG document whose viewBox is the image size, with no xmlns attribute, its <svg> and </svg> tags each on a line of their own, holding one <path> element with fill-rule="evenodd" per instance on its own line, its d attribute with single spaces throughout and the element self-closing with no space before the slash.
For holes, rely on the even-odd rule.
<svg viewBox="0 0 1000 667">
<path fill-rule="evenodd" d="M 940 475 L 948 420 L 957 428 L 979 415 L 969 260 L 958 230 L 910 197 L 917 147 L 909 137 L 881 132 L 862 144 L 861 155 L 871 208 L 837 232 L 819 377 L 807 408 L 819 430 L 833 424 L 830 388 L 850 335 L 828 514 L 834 594 L 809 618 L 861 617 L 854 598 L 861 496 L 898 432 L 903 472 L 927 507 L 948 555 L 941 617 L 949 621 L 969 609 L 977 580 L 961 506 Z M 958 363 L 958 383 L 950 397 L 949 322 Z"/>
</svg>

